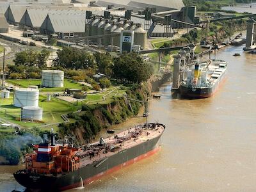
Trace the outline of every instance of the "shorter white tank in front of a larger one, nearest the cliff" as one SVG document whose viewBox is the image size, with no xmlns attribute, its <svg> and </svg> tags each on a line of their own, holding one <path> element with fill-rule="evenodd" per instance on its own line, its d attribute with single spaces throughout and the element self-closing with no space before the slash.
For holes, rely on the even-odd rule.
<svg viewBox="0 0 256 192">
<path fill-rule="evenodd" d="M 20 116 L 22 120 L 42 120 L 43 109 L 34 106 L 26 106 L 21 109 Z"/>
</svg>

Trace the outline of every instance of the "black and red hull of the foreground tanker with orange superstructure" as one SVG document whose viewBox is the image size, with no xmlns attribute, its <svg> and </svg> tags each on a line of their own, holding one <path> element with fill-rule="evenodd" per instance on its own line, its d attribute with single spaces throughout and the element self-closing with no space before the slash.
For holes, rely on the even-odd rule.
<svg viewBox="0 0 256 192">
<path fill-rule="evenodd" d="M 52 175 L 32 175 L 18 172 L 14 174 L 14 177 L 19 184 L 28 189 L 65 191 L 67 189 L 79 188 L 83 184 L 89 184 L 93 180 L 100 179 L 104 175 L 108 175 L 156 153 L 160 147 L 160 138 L 161 136 L 132 148 L 127 148 L 108 157 L 106 160 L 102 158 L 100 161 L 88 164 L 75 172 L 65 173 L 65 175 L 53 177 Z"/>
</svg>

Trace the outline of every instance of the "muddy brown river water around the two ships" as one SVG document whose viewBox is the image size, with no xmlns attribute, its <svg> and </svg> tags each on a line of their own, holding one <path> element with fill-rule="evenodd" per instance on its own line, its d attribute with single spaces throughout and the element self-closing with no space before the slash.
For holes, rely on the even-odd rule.
<svg viewBox="0 0 256 192">
<path fill-rule="evenodd" d="M 256 55 L 242 48 L 218 51 L 228 74 L 214 97 L 175 99 L 166 83 L 150 100 L 148 120 L 166 125 L 157 154 L 70 191 L 256 191 Z M 22 189 L 12 177 L 18 168 L 0 166 L 0 191 Z"/>
</svg>

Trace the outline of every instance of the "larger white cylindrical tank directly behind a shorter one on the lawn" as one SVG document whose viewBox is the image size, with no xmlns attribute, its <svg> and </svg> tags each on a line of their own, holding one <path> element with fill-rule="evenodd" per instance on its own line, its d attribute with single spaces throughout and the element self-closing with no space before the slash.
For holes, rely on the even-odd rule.
<svg viewBox="0 0 256 192">
<path fill-rule="evenodd" d="M 39 90 L 31 88 L 17 88 L 13 92 L 13 106 L 22 108 L 24 106 L 38 107 Z"/>
</svg>

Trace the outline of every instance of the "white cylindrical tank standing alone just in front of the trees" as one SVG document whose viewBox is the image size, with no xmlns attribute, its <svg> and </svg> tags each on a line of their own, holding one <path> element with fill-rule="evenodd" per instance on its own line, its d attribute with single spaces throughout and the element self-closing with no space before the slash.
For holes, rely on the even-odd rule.
<svg viewBox="0 0 256 192">
<path fill-rule="evenodd" d="M 63 87 L 64 72 L 62 70 L 42 70 L 42 86 Z"/>
</svg>

